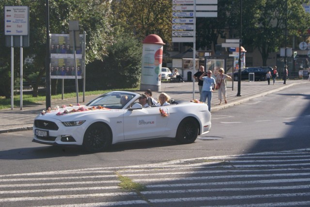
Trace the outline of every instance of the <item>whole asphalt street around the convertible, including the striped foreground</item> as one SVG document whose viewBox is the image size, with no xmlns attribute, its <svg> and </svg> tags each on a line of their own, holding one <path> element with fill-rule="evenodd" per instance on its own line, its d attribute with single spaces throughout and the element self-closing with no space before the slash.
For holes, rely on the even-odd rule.
<svg viewBox="0 0 310 207">
<path fill-rule="evenodd" d="M 189 145 L 91 154 L 32 143 L 31 131 L 2 133 L 0 206 L 309 206 L 309 100 L 299 84 L 216 111 L 211 132 Z M 117 174 L 146 190 L 120 189 Z"/>
</svg>

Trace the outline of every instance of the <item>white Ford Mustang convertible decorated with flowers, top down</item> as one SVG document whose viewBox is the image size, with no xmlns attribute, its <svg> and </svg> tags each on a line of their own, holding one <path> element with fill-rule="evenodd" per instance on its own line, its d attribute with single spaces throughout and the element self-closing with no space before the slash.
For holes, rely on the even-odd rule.
<svg viewBox="0 0 310 207">
<path fill-rule="evenodd" d="M 99 152 L 119 142 L 159 137 L 189 144 L 211 128 L 211 114 L 205 103 L 171 100 L 171 105 L 142 108 L 140 96 L 113 91 L 86 105 L 49 108 L 34 119 L 32 141 L 82 145 L 88 151 Z"/>
</svg>

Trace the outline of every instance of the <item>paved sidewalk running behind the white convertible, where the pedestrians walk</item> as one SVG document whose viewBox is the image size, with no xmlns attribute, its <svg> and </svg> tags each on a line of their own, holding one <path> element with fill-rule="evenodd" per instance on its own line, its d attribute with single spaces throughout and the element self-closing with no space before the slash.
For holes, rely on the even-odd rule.
<svg viewBox="0 0 310 207">
<path fill-rule="evenodd" d="M 232 90 L 232 81 L 227 82 L 227 101 L 222 105 L 217 105 L 219 103 L 217 99 L 217 91 L 213 93 L 212 103 L 211 103 L 211 112 L 218 111 L 223 108 L 233 106 L 235 104 L 240 104 L 246 102 L 250 99 L 265 96 L 270 93 L 277 92 L 282 89 L 286 89 L 295 84 L 309 83 L 308 80 L 288 80 L 286 85 L 283 85 L 282 80 L 277 80 L 275 85 L 267 85 L 267 81 L 261 82 L 248 82 L 241 81 L 241 96 L 236 96 L 238 92 L 238 82 L 233 82 Z M 161 91 L 166 92 L 174 100 L 193 100 L 193 86 L 195 86 L 195 99 L 199 99 L 199 90 L 197 82 L 195 85 L 193 82 L 185 83 L 161 83 Z M 144 93 L 144 91 L 137 91 L 139 93 Z M 157 99 L 159 92 L 153 92 L 153 97 Z M 93 100 L 96 96 L 85 96 L 85 102 L 82 102 L 82 97 L 79 97 L 81 104 L 86 104 L 89 101 Z M 70 98 L 65 100 L 52 100 L 51 106 L 62 105 L 62 104 L 75 104 L 77 98 Z M 224 100 L 223 100 L 224 101 Z M 26 131 L 32 130 L 34 118 L 41 113 L 42 110 L 45 110 L 45 103 L 38 105 L 28 105 L 23 106 L 23 110 L 16 107 L 13 110 L 6 109 L 0 110 L 0 133 L 8 132 L 17 132 L 17 131 Z"/>
</svg>

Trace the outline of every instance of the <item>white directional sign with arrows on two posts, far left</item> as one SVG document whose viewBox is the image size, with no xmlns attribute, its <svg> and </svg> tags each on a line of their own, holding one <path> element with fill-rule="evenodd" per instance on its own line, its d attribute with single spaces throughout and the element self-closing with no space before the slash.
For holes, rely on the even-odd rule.
<svg viewBox="0 0 310 207">
<path fill-rule="evenodd" d="M 28 6 L 5 6 L 5 35 L 28 35 L 28 14 Z"/>
</svg>

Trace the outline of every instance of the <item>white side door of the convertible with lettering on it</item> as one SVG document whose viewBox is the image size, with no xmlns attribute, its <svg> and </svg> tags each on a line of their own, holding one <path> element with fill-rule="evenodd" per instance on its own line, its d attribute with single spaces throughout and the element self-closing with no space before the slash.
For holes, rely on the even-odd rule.
<svg viewBox="0 0 310 207">
<path fill-rule="evenodd" d="M 160 107 L 128 110 L 124 113 L 124 139 L 164 137 L 170 117 L 162 117 Z M 168 112 L 168 107 L 163 107 Z"/>
</svg>

